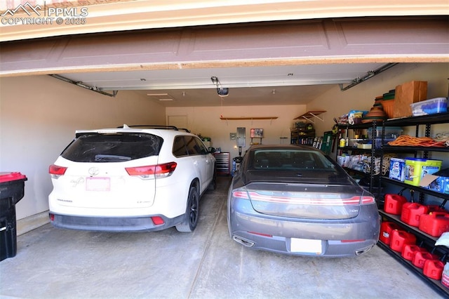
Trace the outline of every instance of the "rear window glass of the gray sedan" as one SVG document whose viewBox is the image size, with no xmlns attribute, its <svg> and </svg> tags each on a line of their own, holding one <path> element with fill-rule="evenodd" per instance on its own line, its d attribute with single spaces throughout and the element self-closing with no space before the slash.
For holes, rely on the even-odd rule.
<svg viewBox="0 0 449 299">
<path fill-rule="evenodd" d="M 307 150 L 256 150 L 252 152 L 252 157 L 250 157 L 250 168 L 333 171 L 335 166 L 319 152 Z"/>
</svg>

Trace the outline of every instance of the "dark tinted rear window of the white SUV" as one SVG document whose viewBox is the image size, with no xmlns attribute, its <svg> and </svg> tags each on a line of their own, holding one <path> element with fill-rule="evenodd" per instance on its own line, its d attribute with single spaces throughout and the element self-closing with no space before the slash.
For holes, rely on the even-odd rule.
<svg viewBox="0 0 449 299">
<path fill-rule="evenodd" d="M 120 162 L 159 154 L 163 139 L 152 134 L 80 135 L 61 156 L 75 162 Z"/>
</svg>

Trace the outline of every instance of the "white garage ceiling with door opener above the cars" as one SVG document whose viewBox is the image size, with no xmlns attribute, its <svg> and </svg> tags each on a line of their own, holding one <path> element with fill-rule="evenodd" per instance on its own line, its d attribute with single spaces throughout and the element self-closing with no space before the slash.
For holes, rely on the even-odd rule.
<svg viewBox="0 0 449 299">
<path fill-rule="evenodd" d="M 60 73 L 80 86 L 112 94 L 135 91 L 165 107 L 305 105 L 335 87 L 382 67 L 382 63 L 290 65 L 130 72 Z M 211 77 L 229 94 L 221 97 Z"/>
</svg>

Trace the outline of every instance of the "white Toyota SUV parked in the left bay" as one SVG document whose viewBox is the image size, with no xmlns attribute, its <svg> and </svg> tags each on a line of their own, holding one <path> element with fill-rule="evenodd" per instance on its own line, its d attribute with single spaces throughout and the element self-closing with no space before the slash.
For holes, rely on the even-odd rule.
<svg viewBox="0 0 449 299">
<path fill-rule="evenodd" d="M 51 223 L 76 230 L 192 232 L 215 189 L 215 157 L 174 126 L 76 131 L 49 173 Z"/>
</svg>

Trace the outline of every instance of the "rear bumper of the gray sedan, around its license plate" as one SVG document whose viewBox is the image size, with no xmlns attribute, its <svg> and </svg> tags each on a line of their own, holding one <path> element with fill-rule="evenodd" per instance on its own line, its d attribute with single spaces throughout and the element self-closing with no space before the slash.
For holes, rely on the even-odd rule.
<svg viewBox="0 0 449 299">
<path fill-rule="evenodd" d="M 251 208 L 249 201 L 236 201 L 233 211 L 228 213 L 229 234 L 234 241 L 250 248 L 290 255 L 345 257 L 366 253 L 379 238 L 380 216 L 375 205 L 361 206 L 369 211 L 363 211 L 357 218 L 310 220 L 260 214 Z M 311 242 L 320 248 L 316 252 L 297 250 L 292 246 L 293 239 L 300 243 L 314 240 Z"/>
</svg>

